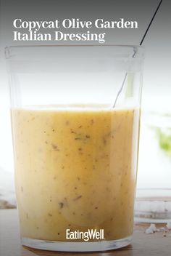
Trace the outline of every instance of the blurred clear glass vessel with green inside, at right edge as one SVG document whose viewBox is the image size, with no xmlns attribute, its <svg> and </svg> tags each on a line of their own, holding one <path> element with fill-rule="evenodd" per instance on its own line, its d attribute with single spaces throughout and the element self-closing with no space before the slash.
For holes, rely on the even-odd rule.
<svg viewBox="0 0 171 256">
<path fill-rule="evenodd" d="M 167 111 L 143 111 L 139 152 L 135 221 L 170 223 L 171 113 L 169 108 Z"/>
</svg>

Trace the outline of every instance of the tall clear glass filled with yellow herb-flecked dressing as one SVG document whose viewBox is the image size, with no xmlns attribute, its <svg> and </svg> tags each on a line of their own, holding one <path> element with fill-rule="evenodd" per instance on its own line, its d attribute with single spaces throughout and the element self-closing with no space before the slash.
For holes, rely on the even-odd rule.
<svg viewBox="0 0 171 256">
<path fill-rule="evenodd" d="M 6 57 L 22 244 L 130 244 L 143 50 L 7 47 Z"/>
</svg>

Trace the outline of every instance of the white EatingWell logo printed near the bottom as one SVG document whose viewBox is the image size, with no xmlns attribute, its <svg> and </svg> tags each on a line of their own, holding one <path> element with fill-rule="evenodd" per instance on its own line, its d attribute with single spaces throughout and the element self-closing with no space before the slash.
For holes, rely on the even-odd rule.
<svg viewBox="0 0 171 256">
<path fill-rule="evenodd" d="M 91 239 L 104 239 L 104 229 L 97 231 L 96 229 L 88 229 L 88 231 L 71 231 L 70 229 L 66 230 L 66 239 L 75 240 L 83 239 L 84 241 L 89 241 Z"/>
</svg>

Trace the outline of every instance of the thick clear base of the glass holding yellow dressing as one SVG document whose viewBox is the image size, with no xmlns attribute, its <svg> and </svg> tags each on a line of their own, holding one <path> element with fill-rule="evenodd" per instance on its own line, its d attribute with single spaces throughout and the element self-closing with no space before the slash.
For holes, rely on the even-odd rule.
<svg viewBox="0 0 171 256">
<path fill-rule="evenodd" d="M 69 242 L 69 241 L 45 241 L 37 239 L 22 238 L 22 245 L 35 249 L 63 252 L 98 252 L 110 249 L 126 247 L 132 241 L 132 236 L 125 239 L 112 241 L 91 241 L 91 242 Z"/>
</svg>

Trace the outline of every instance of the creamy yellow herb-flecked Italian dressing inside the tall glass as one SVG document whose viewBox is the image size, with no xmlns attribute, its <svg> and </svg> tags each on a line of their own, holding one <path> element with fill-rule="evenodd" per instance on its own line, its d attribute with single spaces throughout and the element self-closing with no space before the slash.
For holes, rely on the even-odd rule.
<svg viewBox="0 0 171 256">
<path fill-rule="evenodd" d="M 14 108 L 22 236 L 66 241 L 66 229 L 130 236 L 138 110 Z"/>
</svg>

